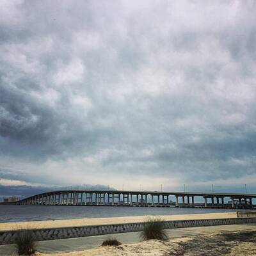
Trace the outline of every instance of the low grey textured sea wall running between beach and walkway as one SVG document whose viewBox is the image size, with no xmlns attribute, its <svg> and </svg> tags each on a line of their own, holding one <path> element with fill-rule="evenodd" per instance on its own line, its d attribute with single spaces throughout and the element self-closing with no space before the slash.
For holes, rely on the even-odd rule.
<svg viewBox="0 0 256 256">
<path fill-rule="evenodd" d="M 165 228 L 185 228 L 204 227 L 214 225 L 231 225 L 242 223 L 255 223 L 256 218 L 228 218 L 214 220 L 175 220 L 164 221 Z M 125 232 L 138 232 L 143 230 L 144 223 L 125 223 L 83 227 L 63 227 L 63 228 L 41 228 L 29 229 L 33 232 L 36 241 L 65 239 L 84 236 L 97 236 L 104 234 L 117 234 Z M 15 242 L 17 230 L 6 230 L 0 232 L 0 244 L 12 244 Z"/>
</svg>

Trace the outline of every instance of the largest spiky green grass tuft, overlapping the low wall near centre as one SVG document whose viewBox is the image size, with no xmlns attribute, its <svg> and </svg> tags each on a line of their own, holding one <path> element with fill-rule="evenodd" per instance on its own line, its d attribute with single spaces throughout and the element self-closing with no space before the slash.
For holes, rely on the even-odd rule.
<svg viewBox="0 0 256 256">
<path fill-rule="evenodd" d="M 141 239 L 149 240 L 149 239 L 157 239 L 164 240 L 167 239 L 168 236 L 166 231 L 164 230 L 164 221 L 159 217 L 150 217 L 148 221 L 145 222 L 143 231 L 140 234 Z"/>
</svg>

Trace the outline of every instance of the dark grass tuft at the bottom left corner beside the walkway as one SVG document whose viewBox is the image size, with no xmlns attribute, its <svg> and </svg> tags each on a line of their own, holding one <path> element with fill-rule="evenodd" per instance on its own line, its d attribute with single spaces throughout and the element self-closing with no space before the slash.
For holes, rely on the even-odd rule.
<svg viewBox="0 0 256 256">
<path fill-rule="evenodd" d="M 19 255 L 33 255 L 36 250 L 36 243 L 32 230 L 18 230 L 15 245 Z"/>
</svg>

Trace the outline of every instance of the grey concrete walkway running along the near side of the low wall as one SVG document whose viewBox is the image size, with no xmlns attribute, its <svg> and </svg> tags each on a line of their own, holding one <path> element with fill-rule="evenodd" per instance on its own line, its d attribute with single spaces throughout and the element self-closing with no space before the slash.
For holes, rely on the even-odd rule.
<svg viewBox="0 0 256 256">
<path fill-rule="evenodd" d="M 196 236 L 200 234 L 207 234 L 221 231 L 237 231 L 237 230 L 256 230 L 255 224 L 241 224 L 241 225 L 223 225 L 211 227 L 192 227 L 192 228 L 175 228 L 167 230 L 170 238 Z M 79 237 L 72 239 L 50 240 L 38 242 L 38 251 L 42 253 L 56 253 L 56 252 L 74 252 L 78 250 L 86 250 L 96 248 L 102 244 L 102 241 L 109 237 L 115 237 L 121 243 L 137 243 L 140 241 L 140 232 L 122 233 L 104 236 Z M 13 255 L 15 246 L 7 244 L 0 246 L 0 255 Z"/>
</svg>

